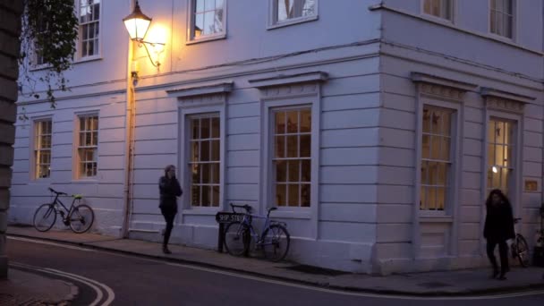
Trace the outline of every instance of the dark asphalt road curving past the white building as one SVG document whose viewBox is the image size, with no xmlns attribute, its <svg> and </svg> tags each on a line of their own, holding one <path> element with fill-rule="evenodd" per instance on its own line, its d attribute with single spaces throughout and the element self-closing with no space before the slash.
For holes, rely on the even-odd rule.
<svg viewBox="0 0 544 306">
<path fill-rule="evenodd" d="M 9 239 L 7 254 L 13 265 L 56 271 L 49 277 L 72 276 L 68 280 L 80 286 L 81 293 L 74 305 L 96 301 L 97 288 L 103 294 L 99 305 L 105 304 L 108 295 L 115 295 L 112 305 L 544 305 L 544 291 L 462 300 L 344 293 L 50 242 Z M 85 279 L 88 284 L 74 279 Z M 111 293 L 105 288 L 111 288 Z"/>
</svg>

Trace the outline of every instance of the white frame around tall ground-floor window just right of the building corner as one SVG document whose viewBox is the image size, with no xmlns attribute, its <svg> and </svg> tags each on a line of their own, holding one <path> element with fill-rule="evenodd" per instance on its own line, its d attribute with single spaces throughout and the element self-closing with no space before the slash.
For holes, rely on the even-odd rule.
<svg viewBox="0 0 544 306">
<path fill-rule="evenodd" d="M 446 203 L 444 210 L 423 210 L 420 208 L 421 201 L 421 161 L 422 161 L 422 132 L 423 132 L 423 108 L 424 106 L 444 108 L 452 111 L 451 118 L 451 142 L 450 142 L 450 173 L 448 174 L 449 189 L 446 191 Z M 417 124 L 417 166 L 416 166 L 416 202 L 419 217 L 449 217 L 453 218 L 456 213 L 456 203 L 458 202 L 459 183 L 459 148 L 461 146 L 461 106 L 459 103 L 439 100 L 438 98 L 428 98 L 420 95 L 420 105 L 418 107 L 418 124 Z"/>
</svg>

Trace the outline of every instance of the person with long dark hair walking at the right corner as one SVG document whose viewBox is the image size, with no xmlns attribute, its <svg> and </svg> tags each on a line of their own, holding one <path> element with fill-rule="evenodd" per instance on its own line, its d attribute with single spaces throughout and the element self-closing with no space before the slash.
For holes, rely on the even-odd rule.
<svg viewBox="0 0 544 306">
<path fill-rule="evenodd" d="M 514 239 L 514 216 L 512 214 L 512 205 L 506 195 L 494 189 L 489 192 L 486 200 L 486 223 L 484 225 L 483 236 L 488 241 L 487 251 L 489 261 L 493 265 L 492 278 L 504 280 L 508 272 L 508 239 Z M 500 256 L 500 275 L 495 258 L 495 247 L 498 244 L 498 254 Z"/>
</svg>

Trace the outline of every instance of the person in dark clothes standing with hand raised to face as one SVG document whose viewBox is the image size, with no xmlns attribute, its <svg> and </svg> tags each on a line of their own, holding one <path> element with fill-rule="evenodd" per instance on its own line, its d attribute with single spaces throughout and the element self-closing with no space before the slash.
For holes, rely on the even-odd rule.
<svg viewBox="0 0 544 306">
<path fill-rule="evenodd" d="M 161 176 L 158 180 L 158 190 L 160 191 L 160 202 L 158 208 L 165 217 L 166 230 L 165 239 L 163 240 L 163 252 L 172 254 L 168 250 L 168 240 L 174 227 L 174 217 L 177 214 L 177 199 L 183 193 L 180 183 L 175 178 L 175 166 L 168 165 L 165 168 L 165 176 Z"/>
</svg>

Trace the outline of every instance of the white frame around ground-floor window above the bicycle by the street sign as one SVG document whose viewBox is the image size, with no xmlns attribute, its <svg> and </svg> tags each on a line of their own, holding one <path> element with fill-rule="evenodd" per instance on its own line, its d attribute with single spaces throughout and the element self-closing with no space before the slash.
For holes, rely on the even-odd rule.
<svg viewBox="0 0 544 306">
<path fill-rule="evenodd" d="M 319 96 L 309 98 L 277 98 L 274 100 L 263 100 L 263 121 L 265 131 L 261 136 L 263 141 L 263 160 L 266 163 L 266 170 L 263 172 L 263 186 L 265 208 L 276 207 L 276 199 L 273 184 L 274 166 L 272 158 L 274 154 L 273 137 L 275 131 L 275 120 L 272 115 L 277 110 L 300 109 L 310 107 L 311 112 L 311 148 L 310 148 L 310 207 L 277 207 L 275 217 L 285 218 L 307 218 L 317 217 L 319 209 Z"/>
</svg>

